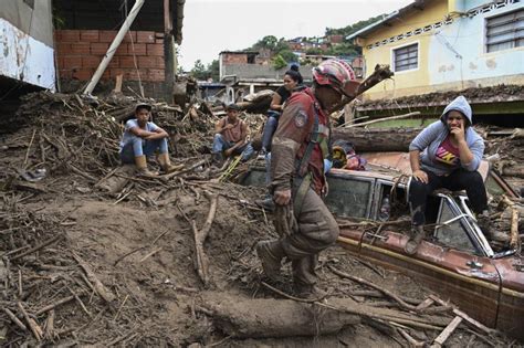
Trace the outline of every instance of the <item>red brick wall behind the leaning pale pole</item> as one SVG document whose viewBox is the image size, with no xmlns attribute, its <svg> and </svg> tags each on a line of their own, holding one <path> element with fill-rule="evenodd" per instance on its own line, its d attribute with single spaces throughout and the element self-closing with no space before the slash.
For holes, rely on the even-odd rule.
<svg viewBox="0 0 524 348">
<path fill-rule="evenodd" d="M 109 30 L 55 30 L 60 77 L 88 81 L 116 33 Z M 102 80 L 114 80 L 124 74 L 124 81 L 138 81 L 138 73 L 143 82 L 165 82 L 164 33 L 128 32 Z"/>
</svg>

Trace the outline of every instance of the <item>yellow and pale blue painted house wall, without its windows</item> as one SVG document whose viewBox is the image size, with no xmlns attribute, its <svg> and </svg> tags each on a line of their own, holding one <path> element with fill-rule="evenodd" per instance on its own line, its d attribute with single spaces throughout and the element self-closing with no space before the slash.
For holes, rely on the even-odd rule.
<svg viewBox="0 0 524 348">
<path fill-rule="evenodd" d="M 367 74 L 377 63 L 392 66 L 392 51 L 415 42 L 419 44 L 419 66 L 417 70 L 396 72 L 392 81 L 369 89 L 365 99 L 458 91 L 501 83 L 524 84 L 524 48 L 485 53 L 484 38 L 486 18 L 522 9 L 524 3 L 509 1 L 505 6 L 493 7 L 474 15 L 463 15 L 467 11 L 491 3 L 492 1 L 486 0 L 434 1 L 423 11 L 415 11 L 399 18 L 391 27 L 373 32 L 363 41 Z M 442 22 L 448 15 L 452 18 L 450 24 L 368 48 L 385 39 Z"/>
</svg>

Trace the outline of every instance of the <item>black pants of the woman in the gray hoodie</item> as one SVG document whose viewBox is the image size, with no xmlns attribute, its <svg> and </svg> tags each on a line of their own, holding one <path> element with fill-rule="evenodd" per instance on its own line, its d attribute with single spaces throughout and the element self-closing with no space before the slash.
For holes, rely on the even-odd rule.
<svg viewBox="0 0 524 348">
<path fill-rule="evenodd" d="M 409 186 L 409 204 L 415 225 L 426 223 L 425 211 L 428 196 L 440 188 L 451 191 L 465 190 L 471 209 L 478 214 L 488 209 L 488 196 L 480 172 L 461 168 L 447 177 L 439 177 L 430 171 L 426 171 L 426 173 L 428 175 L 428 183 L 412 178 Z"/>
</svg>

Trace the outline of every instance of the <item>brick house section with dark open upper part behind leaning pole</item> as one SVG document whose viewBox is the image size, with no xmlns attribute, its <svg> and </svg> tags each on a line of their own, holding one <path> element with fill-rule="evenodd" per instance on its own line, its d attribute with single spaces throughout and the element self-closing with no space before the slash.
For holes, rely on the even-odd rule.
<svg viewBox="0 0 524 348">
<path fill-rule="evenodd" d="M 56 75 L 62 92 L 77 91 L 95 73 L 132 10 L 120 0 L 54 0 Z M 184 0 L 147 0 L 105 70 L 95 93 L 113 89 L 118 75 L 123 92 L 172 102 L 176 45 L 180 44 Z M 56 21 L 56 20 L 55 20 Z M 116 29 L 116 30 L 115 30 Z"/>
</svg>

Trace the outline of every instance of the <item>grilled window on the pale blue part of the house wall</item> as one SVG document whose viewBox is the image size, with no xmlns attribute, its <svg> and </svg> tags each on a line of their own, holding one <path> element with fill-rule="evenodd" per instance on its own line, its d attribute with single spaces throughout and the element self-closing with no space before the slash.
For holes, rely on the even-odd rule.
<svg viewBox="0 0 524 348">
<path fill-rule="evenodd" d="M 486 52 L 524 46 L 524 9 L 485 21 Z"/>
</svg>

